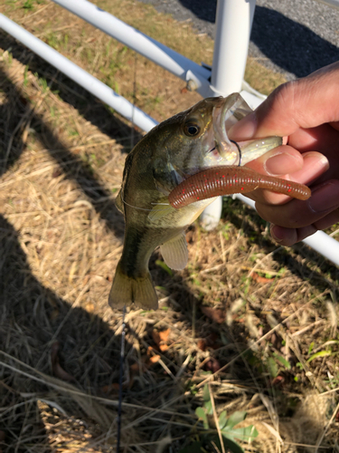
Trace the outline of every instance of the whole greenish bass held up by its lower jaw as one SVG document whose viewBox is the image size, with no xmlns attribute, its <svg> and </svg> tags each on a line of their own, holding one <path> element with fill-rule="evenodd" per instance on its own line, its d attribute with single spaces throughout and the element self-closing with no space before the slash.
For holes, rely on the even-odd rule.
<svg viewBox="0 0 339 453">
<path fill-rule="evenodd" d="M 156 247 L 165 264 L 184 269 L 185 229 L 215 199 L 174 207 L 168 197 L 203 169 L 243 166 L 282 144 L 281 137 L 231 141 L 227 131 L 252 111 L 239 93 L 207 98 L 150 130 L 127 155 L 116 206 L 125 217 L 122 255 L 108 296 L 112 308 L 158 306 L 148 262 Z"/>
</svg>

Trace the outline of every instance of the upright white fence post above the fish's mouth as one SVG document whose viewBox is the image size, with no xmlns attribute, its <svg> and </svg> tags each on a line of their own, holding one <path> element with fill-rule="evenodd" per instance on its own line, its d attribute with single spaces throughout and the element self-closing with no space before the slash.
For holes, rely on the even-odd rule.
<svg viewBox="0 0 339 453">
<path fill-rule="evenodd" d="M 255 0 L 218 0 L 212 64 L 212 91 L 228 96 L 241 91 Z"/>
</svg>

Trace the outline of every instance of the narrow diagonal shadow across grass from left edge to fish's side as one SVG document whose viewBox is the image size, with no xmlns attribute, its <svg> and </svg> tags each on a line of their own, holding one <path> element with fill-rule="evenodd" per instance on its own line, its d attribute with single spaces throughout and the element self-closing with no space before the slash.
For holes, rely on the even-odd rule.
<svg viewBox="0 0 339 453">
<path fill-rule="evenodd" d="M 108 188 L 99 183 L 99 176 L 93 173 L 79 156 L 67 149 L 59 140 L 56 131 L 46 124 L 42 115 L 34 111 L 24 93 L 14 86 L 6 73 L 0 69 L 0 82 L 4 85 L 6 101 L 0 105 L 0 127 L 4 131 L 3 146 L 0 149 L 0 176 L 10 170 L 24 152 L 23 118 L 30 119 L 36 131 L 36 139 L 42 148 L 48 149 L 52 159 L 61 167 L 65 178 L 76 182 L 84 195 L 89 198 L 99 216 L 118 237 L 123 236 L 123 218 L 111 198 Z M 106 112 L 107 116 L 108 112 Z M 17 125 L 22 125 L 17 130 Z M 51 170 L 52 172 L 52 170 Z"/>
</svg>

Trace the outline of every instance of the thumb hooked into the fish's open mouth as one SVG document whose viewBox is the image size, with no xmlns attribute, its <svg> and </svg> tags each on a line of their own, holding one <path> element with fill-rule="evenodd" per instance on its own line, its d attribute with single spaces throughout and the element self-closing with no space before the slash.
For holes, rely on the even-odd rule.
<svg viewBox="0 0 339 453">
<path fill-rule="evenodd" d="M 268 99 L 236 123 L 232 140 L 250 140 L 272 135 L 284 137 L 299 128 L 308 129 L 339 121 L 339 62 L 309 76 L 280 85 Z M 336 122 L 336 123 L 335 123 Z"/>
</svg>

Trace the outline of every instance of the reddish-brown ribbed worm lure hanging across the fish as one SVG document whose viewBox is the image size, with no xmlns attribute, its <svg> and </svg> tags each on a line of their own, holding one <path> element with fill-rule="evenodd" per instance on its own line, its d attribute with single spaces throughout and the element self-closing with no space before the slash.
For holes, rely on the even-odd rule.
<svg viewBox="0 0 339 453">
<path fill-rule="evenodd" d="M 221 166 L 205 169 L 184 179 L 172 190 L 168 200 L 173 207 L 179 208 L 218 195 L 244 194 L 255 188 L 267 188 L 298 199 L 311 196 L 311 190 L 304 184 L 261 175 L 247 167 Z"/>
</svg>

